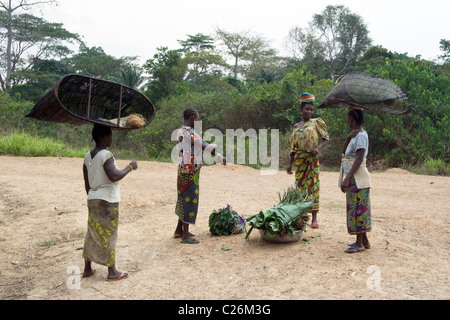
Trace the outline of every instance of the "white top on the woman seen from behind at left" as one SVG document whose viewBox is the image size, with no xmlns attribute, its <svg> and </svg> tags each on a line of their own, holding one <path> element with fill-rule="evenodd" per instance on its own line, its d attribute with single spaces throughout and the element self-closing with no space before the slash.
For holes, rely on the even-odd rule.
<svg viewBox="0 0 450 320">
<path fill-rule="evenodd" d="M 119 181 L 112 182 L 109 180 L 103 168 L 105 162 L 110 158 L 114 159 L 114 155 L 106 149 L 99 151 L 94 158 L 91 157 L 90 151 L 84 157 L 84 165 L 88 171 L 88 180 L 91 187 L 88 200 L 104 200 L 109 203 L 120 202 Z M 114 165 L 119 170 L 115 159 Z"/>
</svg>

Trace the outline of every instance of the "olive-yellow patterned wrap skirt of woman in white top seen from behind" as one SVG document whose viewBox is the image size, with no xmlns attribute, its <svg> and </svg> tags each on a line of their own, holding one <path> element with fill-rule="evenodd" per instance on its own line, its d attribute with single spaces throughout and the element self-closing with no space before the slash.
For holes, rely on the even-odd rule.
<svg viewBox="0 0 450 320">
<path fill-rule="evenodd" d="M 116 265 L 116 242 L 119 225 L 119 203 L 88 200 L 88 230 L 83 258 L 107 267 Z"/>
</svg>

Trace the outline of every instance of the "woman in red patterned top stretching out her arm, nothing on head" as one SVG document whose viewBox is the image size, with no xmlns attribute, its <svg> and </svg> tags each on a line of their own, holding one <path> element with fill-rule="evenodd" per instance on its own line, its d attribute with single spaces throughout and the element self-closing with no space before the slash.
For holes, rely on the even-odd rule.
<svg viewBox="0 0 450 320">
<path fill-rule="evenodd" d="M 211 155 L 223 165 L 226 165 L 227 159 L 217 153 L 217 146 L 208 145 L 195 132 L 194 124 L 200 118 L 195 109 L 185 110 L 183 116 L 184 124 L 177 133 L 179 164 L 175 214 L 178 216 L 178 224 L 174 237 L 181 238 L 182 243 L 197 244 L 199 241 L 189 232 L 189 225 L 195 224 L 197 220 L 203 151 L 208 148 Z"/>
</svg>

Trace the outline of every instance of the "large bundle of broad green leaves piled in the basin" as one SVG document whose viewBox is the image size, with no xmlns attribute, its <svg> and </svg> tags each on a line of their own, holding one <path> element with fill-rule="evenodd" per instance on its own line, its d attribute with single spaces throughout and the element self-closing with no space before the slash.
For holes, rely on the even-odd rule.
<svg viewBox="0 0 450 320">
<path fill-rule="evenodd" d="M 314 202 L 296 187 L 290 187 L 284 195 L 279 195 L 280 202 L 269 210 L 262 210 L 258 214 L 247 218 L 251 226 L 245 239 L 248 239 L 254 228 L 262 230 L 264 235 L 274 237 L 293 236 L 296 231 L 304 230 Z"/>
</svg>

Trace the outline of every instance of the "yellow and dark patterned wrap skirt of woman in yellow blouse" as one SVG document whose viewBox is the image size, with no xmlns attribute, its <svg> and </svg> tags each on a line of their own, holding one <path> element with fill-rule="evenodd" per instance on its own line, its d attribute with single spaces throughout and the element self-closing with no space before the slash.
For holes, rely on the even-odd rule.
<svg viewBox="0 0 450 320">
<path fill-rule="evenodd" d="M 311 156 L 309 152 L 297 151 L 294 163 L 297 166 L 295 183 L 300 190 L 305 190 L 310 199 L 314 200 L 313 212 L 319 211 L 320 193 L 320 163 L 318 156 Z"/>
</svg>

